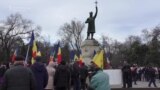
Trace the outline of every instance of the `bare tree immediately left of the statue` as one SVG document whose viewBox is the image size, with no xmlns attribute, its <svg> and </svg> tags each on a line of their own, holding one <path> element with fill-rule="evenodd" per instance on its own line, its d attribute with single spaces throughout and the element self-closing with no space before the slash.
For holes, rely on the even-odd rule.
<svg viewBox="0 0 160 90">
<path fill-rule="evenodd" d="M 84 23 L 72 20 L 71 23 L 65 23 L 63 26 L 61 26 L 58 33 L 64 42 L 69 43 L 72 49 L 79 51 L 83 40 L 83 30 Z"/>
</svg>

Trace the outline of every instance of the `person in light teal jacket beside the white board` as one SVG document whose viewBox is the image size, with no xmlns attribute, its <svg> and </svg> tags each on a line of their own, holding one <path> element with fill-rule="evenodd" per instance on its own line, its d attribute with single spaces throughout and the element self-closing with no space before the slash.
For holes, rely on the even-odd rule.
<svg viewBox="0 0 160 90">
<path fill-rule="evenodd" d="M 109 85 L 109 76 L 94 62 L 91 63 L 95 74 L 91 77 L 89 90 L 111 90 Z"/>
</svg>

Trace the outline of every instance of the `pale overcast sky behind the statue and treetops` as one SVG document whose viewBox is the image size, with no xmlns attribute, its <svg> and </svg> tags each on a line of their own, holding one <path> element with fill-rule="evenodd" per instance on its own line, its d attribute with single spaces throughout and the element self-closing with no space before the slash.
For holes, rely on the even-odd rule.
<svg viewBox="0 0 160 90">
<path fill-rule="evenodd" d="M 123 42 L 128 35 L 140 35 L 141 30 L 160 24 L 160 0 L 97 1 L 97 39 L 103 34 Z M 58 39 L 57 31 L 65 22 L 73 19 L 85 22 L 89 12 L 95 12 L 94 2 L 95 0 L 0 0 L 0 20 L 19 12 L 40 25 L 42 35 L 49 35 L 50 41 L 55 42 Z"/>
</svg>

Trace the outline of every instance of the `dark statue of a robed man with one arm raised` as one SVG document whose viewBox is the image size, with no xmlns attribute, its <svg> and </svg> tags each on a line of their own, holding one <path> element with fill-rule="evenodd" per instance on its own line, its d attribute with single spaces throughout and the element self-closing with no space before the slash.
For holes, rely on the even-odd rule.
<svg viewBox="0 0 160 90">
<path fill-rule="evenodd" d="M 89 39 L 90 34 L 91 34 L 91 39 L 93 39 L 93 35 L 95 33 L 95 19 L 96 19 L 97 13 L 98 13 L 98 8 L 96 6 L 95 15 L 93 16 L 93 12 L 90 12 L 89 13 L 90 17 L 87 18 L 85 22 L 85 23 L 88 23 L 87 39 Z"/>
</svg>

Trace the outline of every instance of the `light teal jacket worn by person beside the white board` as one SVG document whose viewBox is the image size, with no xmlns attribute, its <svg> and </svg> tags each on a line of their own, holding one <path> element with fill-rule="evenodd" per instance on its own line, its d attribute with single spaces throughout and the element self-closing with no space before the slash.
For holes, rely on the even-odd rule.
<svg viewBox="0 0 160 90">
<path fill-rule="evenodd" d="M 102 70 L 97 71 L 91 78 L 90 86 L 93 90 L 111 90 L 108 74 L 104 73 Z"/>
</svg>

